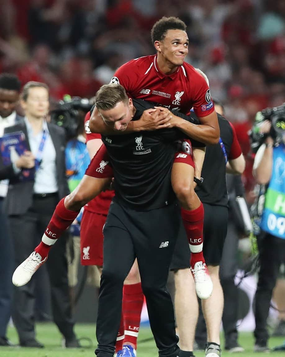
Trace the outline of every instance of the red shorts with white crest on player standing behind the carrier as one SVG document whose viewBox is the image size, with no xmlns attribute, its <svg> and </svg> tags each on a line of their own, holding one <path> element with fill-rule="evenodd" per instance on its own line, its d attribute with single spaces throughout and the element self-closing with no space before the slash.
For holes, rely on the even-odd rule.
<svg viewBox="0 0 285 357">
<path fill-rule="evenodd" d="M 80 226 L 82 265 L 103 265 L 103 227 L 107 216 L 84 210 Z"/>
</svg>

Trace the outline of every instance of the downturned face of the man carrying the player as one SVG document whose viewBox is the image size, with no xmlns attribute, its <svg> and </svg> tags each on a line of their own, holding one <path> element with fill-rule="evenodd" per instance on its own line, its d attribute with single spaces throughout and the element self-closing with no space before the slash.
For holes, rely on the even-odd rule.
<svg viewBox="0 0 285 357">
<path fill-rule="evenodd" d="M 134 116 L 133 109 L 133 101 L 129 98 L 128 103 L 121 101 L 112 109 L 98 111 L 106 125 L 113 127 L 114 130 L 124 131 Z"/>
</svg>

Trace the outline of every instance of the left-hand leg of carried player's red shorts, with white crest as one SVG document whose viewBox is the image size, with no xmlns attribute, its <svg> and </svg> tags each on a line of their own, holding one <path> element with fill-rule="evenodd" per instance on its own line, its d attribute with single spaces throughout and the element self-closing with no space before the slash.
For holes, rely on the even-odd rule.
<svg viewBox="0 0 285 357">
<path fill-rule="evenodd" d="M 96 152 L 89 166 L 85 171 L 85 175 L 95 178 L 113 177 L 113 168 L 110 165 L 109 154 L 106 146 L 103 144 Z"/>
</svg>

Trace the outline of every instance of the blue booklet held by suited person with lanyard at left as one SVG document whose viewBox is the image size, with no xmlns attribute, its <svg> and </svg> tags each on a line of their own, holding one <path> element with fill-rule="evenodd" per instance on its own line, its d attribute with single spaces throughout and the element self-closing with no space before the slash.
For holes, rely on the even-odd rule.
<svg viewBox="0 0 285 357">
<path fill-rule="evenodd" d="M 0 137 L 0 151 L 5 166 L 11 165 L 13 161 L 17 160 L 19 156 L 28 150 L 26 136 L 22 131 L 4 134 Z M 19 174 L 20 181 L 30 181 L 34 180 L 34 178 L 35 167 L 32 169 L 22 169 Z"/>
</svg>

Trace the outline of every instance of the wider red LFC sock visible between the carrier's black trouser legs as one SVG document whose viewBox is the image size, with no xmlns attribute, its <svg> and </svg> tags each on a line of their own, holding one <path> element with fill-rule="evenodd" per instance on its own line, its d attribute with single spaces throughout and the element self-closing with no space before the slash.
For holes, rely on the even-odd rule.
<svg viewBox="0 0 285 357">
<path fill-rule="evenodd" d="M 142 304 L 144 303 L 144 294 L 141 290 L 141 283 L 126 284 L 123 289 L 123 315 L 125 324 L 125 340 L 134 344 L 139 335 L 140 315 Z"/>
</svg>

